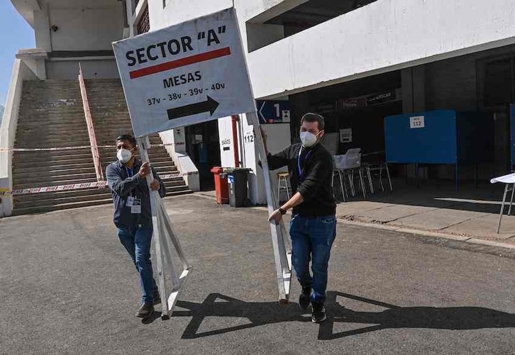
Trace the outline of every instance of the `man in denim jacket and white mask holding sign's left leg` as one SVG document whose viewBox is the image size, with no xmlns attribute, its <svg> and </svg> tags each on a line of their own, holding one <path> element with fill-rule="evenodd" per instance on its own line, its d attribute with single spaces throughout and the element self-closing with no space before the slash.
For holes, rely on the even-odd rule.
<svg viewBox="0 0 515 355">
<path fill-rule="evenodd" d="M 114 203 L 113 221 L 118 228 L 121 244 L 140 274 L 143 297 L 136 317 L 145 319 L 153 314 L 154 305 L 160 303 L 150 261 L 153 225 L 146 177 L 153 174 L 154 181 L 150 188 L 159 191 L 161 197 L 165 197 L 165 186 L 148 162 L 142 164 L 136 159 L 138 147 L 133 136 L 121 135 L 116 138 L 116 149 L 118 161 L 109 164 L 106 169 Z"/>
</svg>

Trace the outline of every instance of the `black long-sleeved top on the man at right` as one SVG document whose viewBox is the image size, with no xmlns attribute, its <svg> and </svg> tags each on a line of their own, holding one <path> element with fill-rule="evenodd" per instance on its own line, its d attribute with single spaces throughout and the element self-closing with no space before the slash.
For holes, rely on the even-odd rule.
<svg viewBox="0 0 515 355">
<path fill-rule="evenodd" d="M 301 143 L 297 143 L 278 154 L 268 154 L 270 170 L 288 167 L 292 191 L 298 191 L 304 198 L 303 203 L 294 207 L 294 215 L 306 217 L 335 215 L 336 200 L 331 186 L 333 157 L 326 147 L 319 143 L 312 148 L 302 147 L 299 162 L 301 147 Z"/>
</svg>

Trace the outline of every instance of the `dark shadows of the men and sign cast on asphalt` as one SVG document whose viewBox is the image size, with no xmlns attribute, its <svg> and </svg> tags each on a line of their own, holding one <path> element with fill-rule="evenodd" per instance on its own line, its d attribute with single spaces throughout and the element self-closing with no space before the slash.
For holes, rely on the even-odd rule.
<svg viewBox="0 0 515 355">
<path fill-rule="evenodd" d="M 369 305 L 387 308 L 380 312 L 355 312 L 340 305 L 336 298 L 348 298 Z M 176 310 L 172 317 L 192 317 L 182 334 L 182 339 L 195 339 L 211 335 L 236 332 L 240 329 L 259 327 L 282 322 L 311 322 L 311 316 L 302 311 L 297 303 L 281 305 L 278 302 L 247 303 L 220 293 L 211 293 L 203 303 L 177 302 L 187 310 Z M 319 339 L 331 340 L 352 335 L 394 328 L 431 329 L 482 329 L 515 327 L 515 315 L 480 307 L 399 307 L 377 300 L 370 300 L 348 293 L 328 292 L 326 300 L 328 320 L 319 327 Z M 159 312 L 153 320 L 160 317 Z M 206 317 L 240 317 L 249 323 L 223 329 L 199 332 Z M 152 321 L 153 321 L 152 320 Z M 147 321 L 148 322 L 148 321 Z M 334 332 L 335 323 L 359 323 L 359 329 Z M 370 325 L 370 326 L 367 326 Z"/>
</svg>

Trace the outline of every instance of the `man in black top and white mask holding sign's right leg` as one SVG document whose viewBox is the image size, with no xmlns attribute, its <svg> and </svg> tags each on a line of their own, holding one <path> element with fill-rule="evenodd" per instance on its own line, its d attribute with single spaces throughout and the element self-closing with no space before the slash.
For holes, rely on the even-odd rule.
<svg viewBox="0 0 515 355">
<path fill-rule="evenodd" d="M 324 120 L 316 113 L 301 119 L 301 143 L 291 145 L 278 154 L 266 147 L 270 170 L 287 166 L 291 176 L 292 198 L 270 215 L 279 222 L 293 208 L 289 234 L 292 237 L 292 264 L 302 286 L 299 305 L 306 309 L 311 302 L 311 319 L 326 320 L 327 267 L 331 246 L 336 237 L 336 201 L 331 186 L 333 157 L 319 144 L 324 133 Z M 265 137 L 264 137 L 265 138 Z M 311 270 L 309 273 L 309 261 Z"/>
</svg>

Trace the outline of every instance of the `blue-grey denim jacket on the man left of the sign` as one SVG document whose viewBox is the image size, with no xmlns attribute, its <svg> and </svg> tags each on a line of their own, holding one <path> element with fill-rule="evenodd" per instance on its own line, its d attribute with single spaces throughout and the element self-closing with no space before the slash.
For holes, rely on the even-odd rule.
<svg viewBox="0 0 515 355">
<path fill-rule="evenodd" d="M 150 209 L 150 192 L 147 180 L 139 174 L 141 162 L 136 160 L 133 169 L 128 169 L 121 162 L 113 162 L 106 168 L 107 184 L 111 189 L 114 203 L 113 221 L 116 227 L 132 229 L 138 226 L 152 227 L 152 211 Z M 133 173 L 132 173 L 133 171 Z M 154 179 L 160 183 L 159 194 L 165 197 L 165 185 L 152 169 Z M 127 199 L 133 196 L 141 199 L 141 213 L 131 213 Z"/>
</svg>

